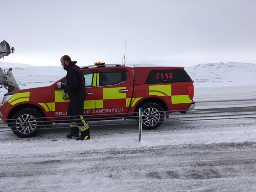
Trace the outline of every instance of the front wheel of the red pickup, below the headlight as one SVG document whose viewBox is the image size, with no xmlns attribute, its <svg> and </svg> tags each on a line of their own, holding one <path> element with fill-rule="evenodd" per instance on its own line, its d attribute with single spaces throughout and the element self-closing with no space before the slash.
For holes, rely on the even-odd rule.
<svg viewBox="0 0 256 192">
<path fill-rule="evenodd" d="M 11 120 L 11 130 L 19 137 L 32 137 L 45 124 L 42 113 L 36 109 L 22 109 L 14 114 Z M 39 119 L 38 119 L 39 118 Z"/>
</svg>

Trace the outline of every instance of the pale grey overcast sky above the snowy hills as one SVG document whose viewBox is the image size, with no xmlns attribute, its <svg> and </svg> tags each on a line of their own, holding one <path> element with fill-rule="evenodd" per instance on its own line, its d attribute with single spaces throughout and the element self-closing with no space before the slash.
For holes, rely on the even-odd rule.
<svg viewBox="0 0 256 192">
<path fill-rule="evenodd" d="M 0 0 L 6 62 L 256 63 L 256 0 Z M 1 59 L 3 61 L 3 59 Z"/>
</svg>

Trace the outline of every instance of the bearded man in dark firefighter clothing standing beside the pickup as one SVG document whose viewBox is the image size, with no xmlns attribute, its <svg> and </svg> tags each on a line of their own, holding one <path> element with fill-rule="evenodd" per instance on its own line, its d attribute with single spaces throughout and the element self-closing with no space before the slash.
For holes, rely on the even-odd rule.
<svg viewBox="0 0 256 192">
<path fill-rule="evenodd" d="M 67 114 L 70 120 L 71 132 L 67 137 L 76 137 L 76 140 L 88 140 L 90 139 L 90 130 L 83 117 L 86 92 L 82 70 L 75 65 L 76 61 L 71 61 L 68 55 L 62 56 L 60 62 L 63 69 L 67 71 L 67 86 L 62 93 L 62 97 L 70 100 Z M 79 131 L 81 133 L 80 136 L 78 134 Z"/>
</svg>

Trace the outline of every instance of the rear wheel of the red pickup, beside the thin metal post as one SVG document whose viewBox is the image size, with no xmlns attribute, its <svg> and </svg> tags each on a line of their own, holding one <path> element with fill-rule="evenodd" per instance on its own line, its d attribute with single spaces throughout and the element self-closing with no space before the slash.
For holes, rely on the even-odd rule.
<svg viewBox="0 0 256 192">
<path fill-rule="evenodd" d="M 155 129 L 164 121 L 163 108 L 154 102 L 144 103 L 142 108 L 142 127 L 145 129 Z"/>
</svg>

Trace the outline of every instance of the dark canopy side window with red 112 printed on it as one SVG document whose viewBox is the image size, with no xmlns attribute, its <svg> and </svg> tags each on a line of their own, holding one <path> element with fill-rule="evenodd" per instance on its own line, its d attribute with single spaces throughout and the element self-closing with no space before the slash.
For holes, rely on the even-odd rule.
<svg viewBox="0 0 256 192">
<path fill-rule="evenodd" d="M 150 71 L 145 83 L 174 83 L 186 81 L 192 81 L 192 79 L 185 70 L 173 69 Z"/>
</svg>

